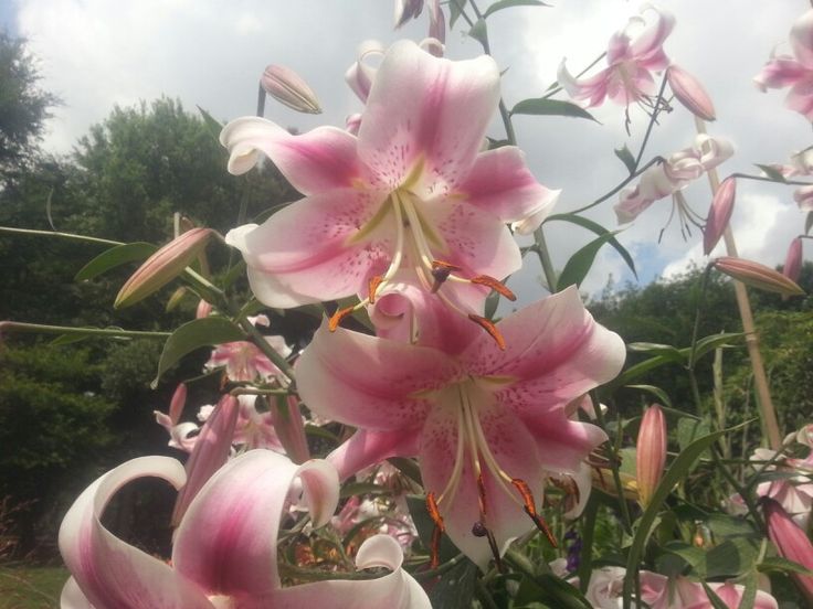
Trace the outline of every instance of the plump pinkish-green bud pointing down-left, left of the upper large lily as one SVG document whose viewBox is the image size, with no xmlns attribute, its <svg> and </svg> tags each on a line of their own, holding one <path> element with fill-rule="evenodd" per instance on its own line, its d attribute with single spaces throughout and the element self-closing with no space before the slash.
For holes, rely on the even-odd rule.
<svg viewBox="0 0 813 609">
<path fill-rule="evenodd" d="M 169 284 L 194 260 L 212 233 L 211 228 L 192 228 L 161 247 L 122 286 L 113 307 L 135 304 Z"/>
</svg>

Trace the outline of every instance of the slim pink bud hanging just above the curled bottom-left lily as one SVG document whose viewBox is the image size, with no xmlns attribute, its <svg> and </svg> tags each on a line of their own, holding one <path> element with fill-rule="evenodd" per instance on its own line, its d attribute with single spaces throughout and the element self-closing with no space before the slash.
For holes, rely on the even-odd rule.
<svg viewBox="0 0 813 609">
<path fill-rule="evenodd" d="M 223 396 L 200 430 L 192 455 L 187 461 L 187 483 L 175 502 L 172 525 L 177 526 L 181 522 L 198 492 L 229 459 L 239 413 L 237 398 Z"/>
</svg>

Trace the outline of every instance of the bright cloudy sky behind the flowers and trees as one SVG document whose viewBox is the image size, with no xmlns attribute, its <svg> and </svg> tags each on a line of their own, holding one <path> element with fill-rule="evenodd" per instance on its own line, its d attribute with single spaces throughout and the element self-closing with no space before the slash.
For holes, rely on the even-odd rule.
<svg viewBox="0 0 813 609">
<path fill-rule="evenodd" d="M 489 3 L 479 0 L 483 8 Z M 562 57 L 573 72 L 588 65 L 641 8 L 625 0 L 549 3 L 553 6 L 514 8 L 489 19 L 492 51 L 505 71 L 503 95 L 508 107 L 539 97 L 556 81 Z M 222 120 L 251 115 L 258 76 L 270 63 L 303 76 L 317 93 L 324 114 L 305 116 L 270 101 L 267 118 L 299 130 L 324 124 L 344 126 L 347 115 L 361 110 L 344 82 L 359 44 L 369 39 L 384 44 L 400 38 L 421 40 L 426 34 L 425 14 L 393 31 L 393 4 L 394 0 L 0 0 L 0 28 L 28 39 L 29 50 L 39 57 L 42 87 L 63 100 L 49 124 L 43 148 L 68 153 L 116 104 L 129 106 L 167 95 L 188 109 L 199 105 Z M 751 81 L 777 45 L 780 52 L 786 51 L 788 31 L 810 2 L 663 0 L 657 4 L 677 20 L 664 46 L 668 56 L 698 77 L 715 101 L 718 120 L 708 126 L 709 132 L 730 139 L 737 150 L 719 168 L 721 178 L 756 173 L 753 163 L 786 162 L 791 153 L 812 143 L 810 122 L 784 108 L 784 93 L 763 94 Z M 447 36 L 446 56 L 453 60 L 481 52 L 461 25 Z M 532 172 L 549 188 L 562 189 L 559 213 L 595 200 L 621 181 L 625 169 L 613 150 L 626 143 L 637 151 L 646 128 L 647 117 L 637 108 L 631 108 L 630 135 L 623 107 L 608 101 L 591 111 L 598 122 L 515 117 L 518 143 Z M 504 137 L 496 119 L 489 135 Z M 644 158 L 680 150 L 694 135 L 691 116 L 677 107 L 663 116 Z M 711 200 L 707 182 L 698 181 L 685 194 L 706 215 Z M 616 197 L 609 200 L 588 217 L 611 229 L 622 228 L 612 211 L 616 202 Z M 617 235 L 635 258 L 642 282 L 672 276 L 691 261 L 706 261 L 699 231 L 684 239 L 673 222 L 658 243 L 671 209 L 668 199 L 656 202 Z M 780 264 L 803 223 L 790 186 L 738 183 L 732 227 L 743 257 Z M 546 234 L 559 269 L 592 238 L 591 233 L 561 222 L 548 224 Z M 712 253 L 722 254 L 719 248 Z M 619 285 L 632 276 L 619 255 L 604 247 L 582 290 L 595 293 L 610 278 Z M 540 281 L 539 264 L 528 259 L 509 285 L 521 301 L 538 297 Z"/>
</svg>

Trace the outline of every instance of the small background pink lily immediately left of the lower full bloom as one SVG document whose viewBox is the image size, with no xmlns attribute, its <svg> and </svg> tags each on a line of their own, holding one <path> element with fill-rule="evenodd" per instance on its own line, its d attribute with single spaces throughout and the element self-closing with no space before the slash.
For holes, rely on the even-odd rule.
<svg viewBox="0 0 813 609">
<path fill-rule="evenodd" d="M 254 325 L 268 327 L 270 321 L 266 316 L 257 316 L 249 318 Z M 291 355 L 291 348 L 285 343 L 285 339 L 278 335 L 265 336 L 266 342 L 282 355 L 287 357 Z M 281 384 L 285 384 L 285 376 L 278 367 L 260 350 L 257 345 L 249 341 L 233 341 L 219 344 L 212 351 L 211 357 L 203 365 L 204 370 L 214 370 L 225 367 L 225 374 L 230 381 L 247 382 L 254 381 L 270 382 L 276 378 Z"/>
</svg>

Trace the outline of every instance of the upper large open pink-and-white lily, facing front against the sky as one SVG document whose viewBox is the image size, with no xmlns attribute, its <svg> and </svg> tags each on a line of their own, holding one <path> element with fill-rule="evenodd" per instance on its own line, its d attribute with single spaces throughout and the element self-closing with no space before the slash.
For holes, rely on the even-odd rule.
<svg viewBox="0 0 813 609">
<path fill-rule="evenodd" d="M 541 222 L 558 196 L 519 149 L 481 152 L 498 99 L 490 57 L 451 62 L 402 41 L 374 75 L 357 137 L 331 127 L 292 136 L 255 117 L 226 125 L 232 173 L 264 153 L 305 195 L 226 236 L 256 297 L 288 308 L 359 295 L 361 307 L 408 270 L 450 309 L 478 314 L 521 263 L 505 224 Z"/>
</svg>

